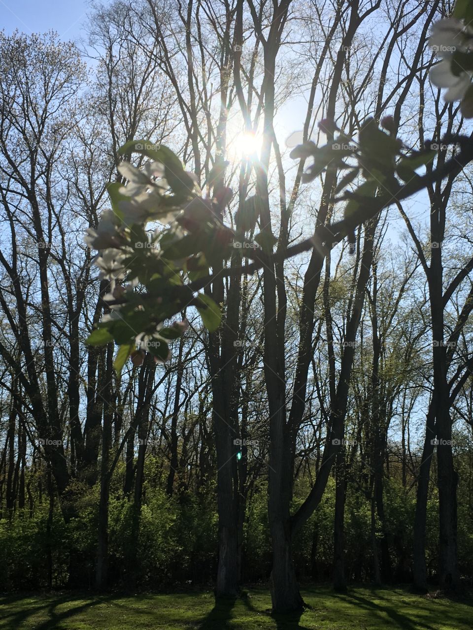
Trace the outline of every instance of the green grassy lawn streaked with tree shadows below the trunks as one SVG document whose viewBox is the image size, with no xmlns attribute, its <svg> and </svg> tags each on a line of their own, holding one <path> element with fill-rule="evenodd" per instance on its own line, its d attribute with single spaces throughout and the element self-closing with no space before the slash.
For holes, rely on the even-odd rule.
<svg viewBox="0 0 473 630">
<path fill-rule="evenodd" d="M 0 597 L 0 630 L 471 630 L 473 600 L 453 602 L 411 595 L 402 588 L 328 587 L 303 590 L 312 609 L 271 616 L 267 590 L 252 588 L 236 602 L 214 605 L 211 592 L 172 595 Z"/>
</svg>

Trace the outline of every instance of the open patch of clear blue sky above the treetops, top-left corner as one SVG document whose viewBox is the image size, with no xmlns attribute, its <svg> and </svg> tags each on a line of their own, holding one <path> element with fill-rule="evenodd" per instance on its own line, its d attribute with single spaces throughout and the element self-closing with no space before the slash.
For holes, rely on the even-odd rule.
<svg viewBox="0 0 473 630">
<path fill-rule="evenodd" d="M 13 33 L 54 30 L 62 40 L 79 36 L 88 11 L 87 0 L 0 0 L 0 28 Z"/>
</svg>

